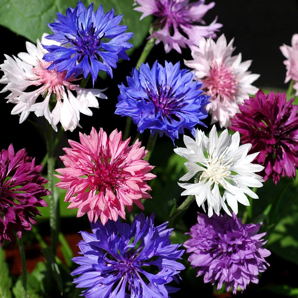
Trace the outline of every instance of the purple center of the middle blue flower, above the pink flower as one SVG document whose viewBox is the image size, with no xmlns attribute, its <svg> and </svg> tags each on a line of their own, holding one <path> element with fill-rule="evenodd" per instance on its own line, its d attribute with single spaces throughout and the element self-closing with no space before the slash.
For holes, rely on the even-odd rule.
<svg viewBox="0 0 298 298">
<path fill-rule="evenodd" d="M 148 94 L 148 101 L 154 104 L 155 113 L 160 111 L 162 116 L 169 119 L 173 119 L 174 116 L 176 120 L 180 121 L 179 116 L 176 115 L 176 111 L 186 106 L 187 103 L 183 102 L 183 98 L 177 100 L 175 94 L 172 94 L 170 86 L 161 85 L 157 92 L 154 91 L 154 88 L 147 89 L 145 92 Z"/>
</svg>

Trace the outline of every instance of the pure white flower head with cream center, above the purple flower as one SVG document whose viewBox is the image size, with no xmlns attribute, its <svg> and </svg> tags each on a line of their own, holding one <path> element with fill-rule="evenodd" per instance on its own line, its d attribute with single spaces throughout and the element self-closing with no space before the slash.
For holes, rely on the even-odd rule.
<svg viewBox="0 0 298 298">
<path fill-rule="evenodd" d="M 177 154 L 188 159 L 185 165 L 189 172 L 179 180 L 189 180 L 199 173 L 195 183 L 178 183 L 186 189 L 181 195 L 195 195 L 198 206 L 202 206 L 204 211 L 204 202 L 207 200 L 209 217 L 212 216 L 213 209 L 219 215 L 221 207 L 231 215 L 225 200 L 237 214 L 238 202 L 249 206 L 245 193 L 252 198 L 258 198 L 248 187 L 263 186 L 262 177 L 255 172 L 260 172 L 264 167 L 251 163 L 259 152 L 247 155 L 252 145 L 239 146 L 239 142 L 238 132 L 231 136 L 225 129 L 218 137 L 213 125 L 209 138 L 197 129 L 195 140 L 184 136 L 186 148 L 174 149 Z M 207 157 L 204 155 L 205 150 Z M 219 185 L 224 188 L 223 197 Z"/>
</svg>

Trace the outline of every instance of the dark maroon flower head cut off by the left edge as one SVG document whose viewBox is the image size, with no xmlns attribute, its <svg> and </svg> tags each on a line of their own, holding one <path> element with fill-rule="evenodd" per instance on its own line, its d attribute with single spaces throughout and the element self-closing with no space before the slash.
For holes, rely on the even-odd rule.
<svg viewBox="0 0 298 298">
<path fill-rule="evenodd" d="M 15 153 L 13 145 L 0 152 L 0 246 L 4 239 L 18 238 L 22 229 L 31 230 L 40 215 L 36 207 L 47 206 L 41 198 L 50 192 L 44 188 L 47 180 L 41 177 L 42 165 L 27 156 L 25 149 Z"/>
</svg>

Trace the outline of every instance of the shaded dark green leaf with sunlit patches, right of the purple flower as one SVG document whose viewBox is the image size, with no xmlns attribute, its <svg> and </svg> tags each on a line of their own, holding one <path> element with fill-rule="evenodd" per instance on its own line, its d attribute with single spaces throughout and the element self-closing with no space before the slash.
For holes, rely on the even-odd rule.
<svg viewBox="0 0 298 298">
<path fill-rule="evenodd" d="M 285 260 L 298 264 L 298 179 L 280 179 L 277 186 L 271 179 L 257 190 L 252 218 L 263 222 L 267 232 L 267 248 Z"/>
</svg>

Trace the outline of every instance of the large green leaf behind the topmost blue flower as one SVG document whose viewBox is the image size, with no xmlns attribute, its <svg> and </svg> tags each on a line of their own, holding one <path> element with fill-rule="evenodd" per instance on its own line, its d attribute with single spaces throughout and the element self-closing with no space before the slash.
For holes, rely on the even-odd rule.
<svg viewBox="0 0 298 298">
<path fill-rule="evenodd" d="M 91 2 L 83 0 L 85 5 Z M 134 32 L 131 43 L 138 47 L 148 33 L 150 18 L 139 21 L 141 14 L 133 10 L 133 3 L 134 0 L 95 0 L 94 6 L 97 9 L 102 4 L 105 12 L 114 7 L 116 14 L 123 14 L 122 24 Z M 1 0 L 0 25 L 36 43 L 44 32 L 51 33 L 47 23 L 54 21 L 57 11 L 65 14 L 69 6 L 76 4 L 77 0 Z"/>
</svg>

